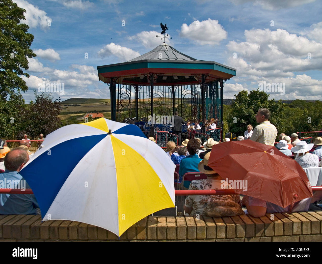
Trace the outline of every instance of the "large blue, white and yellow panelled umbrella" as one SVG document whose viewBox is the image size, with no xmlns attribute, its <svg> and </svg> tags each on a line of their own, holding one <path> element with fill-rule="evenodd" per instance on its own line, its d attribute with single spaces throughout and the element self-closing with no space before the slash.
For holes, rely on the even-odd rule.
<svg viewBox="0 0 322 264">
<path fill-rule="evenodd" d="M 175 164 L 136 125 L 105 118 L 67 125 L 42 145 L 20 173 L 43 220 L 80 221 L 120 236 L 175 207 Z"/>
</svg>

